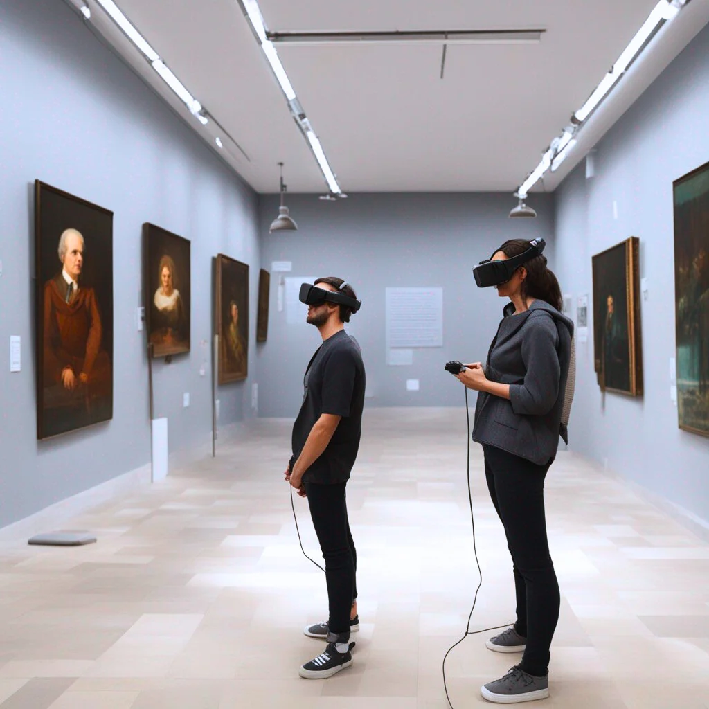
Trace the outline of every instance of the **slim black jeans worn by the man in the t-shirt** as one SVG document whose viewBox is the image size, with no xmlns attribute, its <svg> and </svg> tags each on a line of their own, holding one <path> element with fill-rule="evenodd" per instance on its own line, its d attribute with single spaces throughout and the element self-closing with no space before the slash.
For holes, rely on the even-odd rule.
<svg viewBox="0 0 709 709">
<path fill-rule="evenodd" d="M 350 611 L 357 598 L 357 551 L 347 520 L 347 483 L 305 485 L 313 527 L 325 558 L 330 632 L 340 636 L 338 642 L 347 642 L 350 640 Z"/>
</svg>

